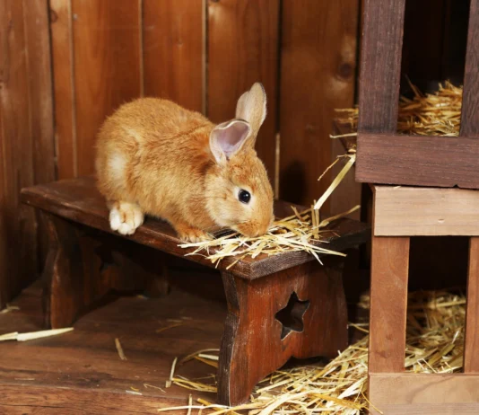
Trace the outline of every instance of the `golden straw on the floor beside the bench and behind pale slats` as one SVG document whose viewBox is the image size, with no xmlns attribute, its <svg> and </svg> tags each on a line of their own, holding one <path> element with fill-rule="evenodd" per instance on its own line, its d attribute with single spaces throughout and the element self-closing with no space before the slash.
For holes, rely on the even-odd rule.
<svg viewBox="0 0 479 415">
<path fill-rule="evenodd" d="M 368 298 L 361 305 L 367 306 Z M 417 373 L 452 373 L 462 367 L 465 324 L 464 296 L 448 292 L 417 292 L 409 296 L 406 331 L 405 367 Z M 365 322 L 352 324 L 368 332 Z M 202 354 L 200 350 L 194 355 Z M 213 350 L 209 350 L 211 355 Z M 183 359 L 182 362 L 187 360 Z M 198 399 L 179 409 L 198 409 L 208 415 L 248 413 L 249 415 L 325 413 L 367 413 L 368 335 L 345 349 L 327 366 L 298 366 L 278 370 L 257 385 L 251 402 L 238 407 L 224 407 Z M 175 382 L 176 379 L 182 382 Z M 173 378 L 173 383 L 196 391 L 216 392 L 214 378 L 187 380 Z M 214 397 L 212 397 L 212 400 Z M 371 402 L 374 405 L 374 402 Z M 164 408 L 159 411 L 170 411 Z M 380 411 L 380 408 L 379 408 Z M 196 412 L 199 413 L 199 412 Z"/>
</svg>

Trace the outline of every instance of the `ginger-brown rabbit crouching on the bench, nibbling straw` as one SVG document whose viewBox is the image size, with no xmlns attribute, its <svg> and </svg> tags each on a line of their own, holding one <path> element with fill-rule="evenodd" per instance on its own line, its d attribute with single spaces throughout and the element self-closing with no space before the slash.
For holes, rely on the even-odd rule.
<svg viewBox="0 0 479 415">
<path fill-rule="evenodd" d="M 183 241 L 229 227 L 266 233 L 273 190 L 254 149 L 266 117 L 266 93 L 243 93 L 236 119 L 214 126 L 174 102 L 141 98 L 121 106 L 100 128 L 97 175 L 111 229 L 134 234 L 144 215 L 170 222 Z"/>
</svg>

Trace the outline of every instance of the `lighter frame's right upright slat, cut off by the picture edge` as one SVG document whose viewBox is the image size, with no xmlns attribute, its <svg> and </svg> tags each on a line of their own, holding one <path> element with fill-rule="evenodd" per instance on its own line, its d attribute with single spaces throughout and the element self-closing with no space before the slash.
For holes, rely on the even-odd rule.
<svg viewBox="0 0 479 415">
<path fill-rule="evenodd" d="M 479 373 L 479 237 L 470 238 L 464 372 Z"/>
</svg>

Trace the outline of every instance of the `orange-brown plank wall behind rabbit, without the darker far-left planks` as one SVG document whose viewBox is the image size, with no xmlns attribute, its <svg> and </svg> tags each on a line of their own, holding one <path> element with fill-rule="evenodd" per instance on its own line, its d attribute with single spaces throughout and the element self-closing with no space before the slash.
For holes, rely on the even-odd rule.
<svg viewBox="0 0 479 415">
<path fill-rule="evenodd" d="M 328 138 L 333 110 L 353 104 L 358 4 L 52 0 L 55 95 L 66 112 L 58 176 L 92 172 L 95 132 L 122 102 L 161 96 L 221 122 L 261 81 L 268 116 L 258 155 L 271 181 L 280 174 L 283 199 L 310 203 L 326 187 L 316 179 L 332 152 L 341 152 Z"/>
</svg>

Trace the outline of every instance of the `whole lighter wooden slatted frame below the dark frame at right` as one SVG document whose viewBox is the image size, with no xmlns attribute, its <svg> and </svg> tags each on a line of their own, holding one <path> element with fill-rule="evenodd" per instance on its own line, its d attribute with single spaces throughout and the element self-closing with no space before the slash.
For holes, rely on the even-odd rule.
<svg viewBox="0 0 479 415">
<path fill-rule="evenodd" d="M 479 413 L 479 191 L 371 188 L 370 402 L 388 415 Z M 471 236 L 464 374 L 405 373 L 409 239 L 418 235 Z"/>
</svg>

